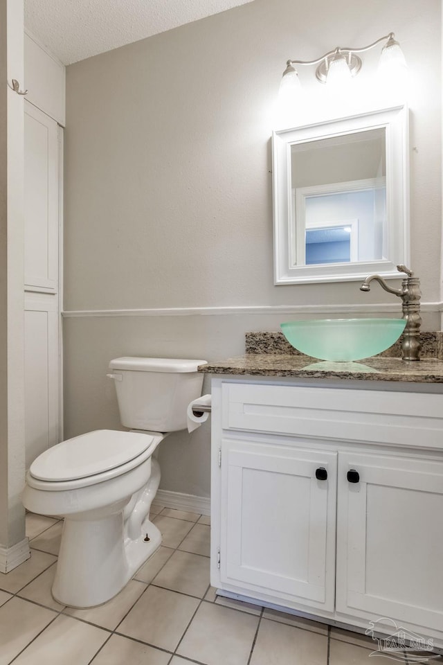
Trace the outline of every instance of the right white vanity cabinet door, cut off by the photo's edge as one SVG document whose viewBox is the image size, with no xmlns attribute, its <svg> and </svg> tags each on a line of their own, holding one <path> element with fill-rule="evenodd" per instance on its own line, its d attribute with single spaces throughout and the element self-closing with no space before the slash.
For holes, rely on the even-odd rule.
<svg viewBox="0 0 443 665">
<path fill-rule="evenodd" d="M 442 561 L 443 461 L 339 453 L 337 610 L 441 630 Z"/>
</svg>

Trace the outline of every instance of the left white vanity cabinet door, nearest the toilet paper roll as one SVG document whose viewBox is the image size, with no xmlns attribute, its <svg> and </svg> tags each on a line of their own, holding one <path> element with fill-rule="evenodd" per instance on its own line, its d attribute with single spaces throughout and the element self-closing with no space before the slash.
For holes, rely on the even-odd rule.
<svg viewBox="0 0 443 665">
<path fill-rule="evenodd" d="M 336 453 L 224 441 L 221 477 L 221 582 L 332 611 Z"/>
</svg>

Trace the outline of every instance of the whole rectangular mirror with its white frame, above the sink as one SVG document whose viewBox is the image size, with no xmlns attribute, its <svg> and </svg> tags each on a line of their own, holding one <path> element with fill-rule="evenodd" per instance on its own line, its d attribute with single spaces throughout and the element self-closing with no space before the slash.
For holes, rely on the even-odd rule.
<svg viewBox="0 0 443 665">
<path fill-rule="evenodd" d="M 404 105 L 273 132 L 275 284 L 398 277 L 408 158 Z"/>
</svg>

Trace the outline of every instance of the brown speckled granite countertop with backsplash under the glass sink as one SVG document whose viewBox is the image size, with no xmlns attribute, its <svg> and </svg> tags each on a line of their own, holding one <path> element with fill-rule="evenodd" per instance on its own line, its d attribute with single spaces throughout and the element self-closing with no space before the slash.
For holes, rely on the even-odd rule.
<svg viewBox="0 0 443 665">
<path fill-rule="evenodd" d="M 292 348 L 280 332 L 246 333 L 246 353 L 199 367 L 207 374 L 443 383 L 442 333 L 423 333 L 422 359 L 401 360 L 399 345 L 359 362 L 329 362 Z M 435 342 L 435 344 L 434 344 Z M 397 355 L 397 357 L 395 357 Z"/>
</svg>

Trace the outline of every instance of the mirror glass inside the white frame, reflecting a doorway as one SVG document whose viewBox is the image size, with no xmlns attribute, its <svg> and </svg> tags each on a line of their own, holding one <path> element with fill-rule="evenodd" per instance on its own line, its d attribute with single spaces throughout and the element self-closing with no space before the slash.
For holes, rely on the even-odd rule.
<svg viewBox="0 0 443 665">
<path fill-rule="evenodd" d="M 385 145 L 383 127 L 291 146 L 292 265 L 382 258 Z"/>
</svg>

